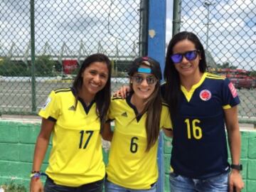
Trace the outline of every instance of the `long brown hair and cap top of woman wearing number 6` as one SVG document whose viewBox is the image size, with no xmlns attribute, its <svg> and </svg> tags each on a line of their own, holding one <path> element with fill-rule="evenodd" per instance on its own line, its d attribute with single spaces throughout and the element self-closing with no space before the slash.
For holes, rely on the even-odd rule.
<svg viewBox="0 0 256 192">
<path fill-rule="evenodd" d="M 150 65 L 147 65 L 145 63 L 147 61 Z M 161 119 L 161 93 L 160 93 L 160 80 L 161 80 L 161 68 L 160 64 L 149 57 L 144 58 L 137 58 L 134 60 L 130 71 L 129 76 L 130 78 L 132 75 L 134 75 L 135 72 L 137 72 L 137 68 L 139 68 L 140 65 L 146 65 L 151 68 L 151 73 L 156 77 L 158 80 L 156 82 L 154 92 L 149 96 L 149 98 L 146 101 L 146 105 L 142 112 L 140 112 L 138 116 L 146 113 L 146 151 L 149 151 L 152 146 L 157 142 L 157 139 L 159 137 L 159 131 L 160 131 L 160 119 Z M 134 90 L 132 89 L 132 83 L 130 81 L 130 88 L 131 92 L 130 94 L 134 93 Z"/>
</svg>

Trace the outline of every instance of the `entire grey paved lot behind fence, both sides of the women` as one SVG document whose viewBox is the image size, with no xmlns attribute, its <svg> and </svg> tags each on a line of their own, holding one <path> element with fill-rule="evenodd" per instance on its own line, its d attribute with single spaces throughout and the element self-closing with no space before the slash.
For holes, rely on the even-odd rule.
<svg viewBox="0 0 256 192">
<path fill-rule="evenodd" d="M 112 92 L 121 85 L 128 83 L 127 78 L 112 78 Z M 38 111 L 46 101 L 51 90 L 70 87 L 72 80 L 38 80 L 36 82 L 36 110 Z M 239 116 L 256 118 L 256 89 L 238 90 L 241 104 Z M 0 112 L 31 112 L 32 95 L 29 80 L 0 81 Z"/>
</svg>

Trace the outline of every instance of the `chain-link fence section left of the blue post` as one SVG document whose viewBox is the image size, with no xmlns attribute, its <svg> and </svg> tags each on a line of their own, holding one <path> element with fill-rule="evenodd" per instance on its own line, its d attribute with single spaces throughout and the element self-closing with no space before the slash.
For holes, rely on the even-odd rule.
<svg viewBox="0 0 256 192">
<path fill-rule="evenodd" d="M 1 1 L 0 113 L 37 112 L 50 90 L 70 87 L 92 53 L 110 57 L 112 89 L 119 87 L 127 64 L 145 54 L 147 6 L 144 0 Z"/>
</svg>

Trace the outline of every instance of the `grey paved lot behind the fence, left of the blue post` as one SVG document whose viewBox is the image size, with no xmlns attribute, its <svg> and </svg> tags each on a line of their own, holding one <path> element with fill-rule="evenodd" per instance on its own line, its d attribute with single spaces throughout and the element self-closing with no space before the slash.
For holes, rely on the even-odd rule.
<svg viewBox="0 0 256 192">
<path fill-rule="evenodd" d="M 128 79 L 112 78 L 112 92 L 121 85 L 127 84 Z M 0 81 L 0 114 L 6 112 L 31 112 L 32 88 L 27 80 Z M 51 90 L 72 86 L 72 80 L 41 80 L 36 82 L 36 108 L 43 106 Z"/>
</svg>

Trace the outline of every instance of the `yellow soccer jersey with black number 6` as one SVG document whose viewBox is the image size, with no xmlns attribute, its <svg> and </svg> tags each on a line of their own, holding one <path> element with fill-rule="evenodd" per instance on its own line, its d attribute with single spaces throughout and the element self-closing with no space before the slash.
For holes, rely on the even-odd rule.
<svg viewBox="0 0 256 192">
<path fill-rule="evenodd" d="M 147 189 L 158 178 L 158 142 L 146 152 L 146 113 L 135 118 L 137 110 L 130 98 L 113 98 L 110 105 L 109 119 L 114 119 L 114 135 L 106 169 L 107 180 L 125 188 Z M 166 105 L 162 105 L 160 127 L 172 127 Z"/>
</svg>

